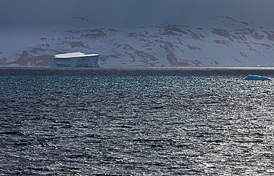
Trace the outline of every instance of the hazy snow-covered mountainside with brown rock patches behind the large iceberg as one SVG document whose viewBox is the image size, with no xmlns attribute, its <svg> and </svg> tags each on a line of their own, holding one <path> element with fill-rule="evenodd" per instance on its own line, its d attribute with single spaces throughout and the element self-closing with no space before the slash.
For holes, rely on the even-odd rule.
<svg viewBox="0 0 274 176">
<path fill-rule="evenodd" d="M 274 62 L 274 29 L 253 27 L 231 17 L 206 20 L 214 22 L 212 28 L 161 24 L 36 34 L 27 45 L 14 42 L 12 49 L 2 42 L 0 65 L 50 66 L 55 54 L 77 51 L 100 54 L 101 66 L 256 66 Z"/>
</svg>

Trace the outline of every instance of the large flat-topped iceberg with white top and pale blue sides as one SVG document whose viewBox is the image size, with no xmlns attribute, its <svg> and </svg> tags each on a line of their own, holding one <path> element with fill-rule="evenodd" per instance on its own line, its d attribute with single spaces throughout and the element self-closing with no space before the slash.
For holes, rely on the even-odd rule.
<svg viewBox="0 0 274 176">
<path fill-rule="evenodd" d="M 57 54 L 51 67 L 100 67 L 99 54 L 81 52 Z"/>
</svg>

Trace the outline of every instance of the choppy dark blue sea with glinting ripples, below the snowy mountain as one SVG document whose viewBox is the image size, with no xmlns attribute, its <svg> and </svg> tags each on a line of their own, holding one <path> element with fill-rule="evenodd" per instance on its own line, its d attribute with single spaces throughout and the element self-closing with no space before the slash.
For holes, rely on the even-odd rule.
<svg viewBox="0 0 274 176">
<path fill-rule="evenodd" d="M 274 70 L 116 69 L 0 69 L 0 175 L 274 174 Z"/>
</svg>

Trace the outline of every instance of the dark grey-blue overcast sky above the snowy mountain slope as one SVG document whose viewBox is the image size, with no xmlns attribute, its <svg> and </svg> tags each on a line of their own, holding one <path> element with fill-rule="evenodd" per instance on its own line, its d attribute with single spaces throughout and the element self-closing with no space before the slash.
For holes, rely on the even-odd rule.
<svg viewBox="0 0 274 176">
<path fill-rule="evenodd" d="M 162 23 L 204 26 L 230 16 L 274 29 L 273 0 L 1 0 L 2 27 L 132 28 Z M 85 17 L 76 20 L 72 17 Z"/>
</svg>

